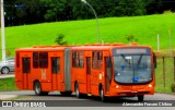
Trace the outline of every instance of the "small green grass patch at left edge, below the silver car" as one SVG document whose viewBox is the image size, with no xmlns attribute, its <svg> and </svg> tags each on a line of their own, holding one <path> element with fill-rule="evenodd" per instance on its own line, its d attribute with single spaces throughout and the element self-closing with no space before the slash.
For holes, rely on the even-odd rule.
<svg viewBox="0 0 175 110">
<path fill-rule="evenodd" d="M 0 78 L 0 91 L 18 90 L 14 83 L 14 77 Z"/>
</svg>

